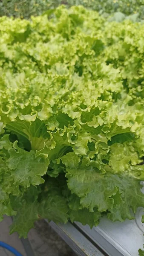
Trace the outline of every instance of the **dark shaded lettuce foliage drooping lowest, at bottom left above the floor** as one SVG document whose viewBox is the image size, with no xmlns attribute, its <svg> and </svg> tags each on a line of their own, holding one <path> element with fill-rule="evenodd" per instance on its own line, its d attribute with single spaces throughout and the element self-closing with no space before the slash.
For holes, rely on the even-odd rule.
<svg viewBox="0 0 144 256">
<path fill-rule="evenodd" d="M 27 237 L 34 222 L 48 218 L 56 223 L 68 221 L 68 204 L 61 195 L 58 183 L 49 180 L 44 186 L 43 194 L 36 186 L 30 186 L 21 197 L 11 197 L 11 204 L 16 211 L 10 233 L 17 231 L 20 237 Z"/>
</svg>

